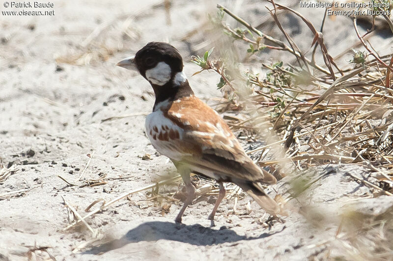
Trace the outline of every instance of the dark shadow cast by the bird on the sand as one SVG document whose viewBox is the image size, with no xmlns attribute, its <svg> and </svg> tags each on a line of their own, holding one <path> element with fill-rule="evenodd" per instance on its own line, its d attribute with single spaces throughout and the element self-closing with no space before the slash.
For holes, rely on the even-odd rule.
<svg viewBox="0 0 393 261">
<path fill-rule="evenodd" d="M 285 227 L 282 228 L 282 230 Z M 157 241 L 160 239 L 178 241 L 189 243 L 197 246 L 216 245 L 225 242 L 237 242 L 240 240 L 253 240 L 265 238 L 280 231 L 263 233 L 258 237 L 246 237 L 236 234 L 236 232 L 222 227 L 219 230 L 210 227 L 203 227 L 202 225 L 184 225 L 171 222 L 152 221 L 140 224 L 138 227 L 131 229 L 123 237 L 119 239 L 112 239 L 109 242 L 94 246 L 83 254 L 102 254 L 129 243 L 136 243 L 140 241 Z"/>
</svg>

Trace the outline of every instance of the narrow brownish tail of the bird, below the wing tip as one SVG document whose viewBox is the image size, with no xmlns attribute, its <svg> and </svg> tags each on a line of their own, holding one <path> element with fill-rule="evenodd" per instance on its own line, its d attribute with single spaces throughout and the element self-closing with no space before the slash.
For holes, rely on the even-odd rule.
<svg viewBox="0 0 393 261">
<path fill-rule="evenodd" d="M 267 213 L 277 216 L 278 214 L 284 214 L 281 210 L 280 205 L 274 201 L 271 197 L 269 197 L 262 188 L 259 187 L 258 184 L 248 181 L 239 181 L 236 182 L 236 185 L 239 186 L 243 191 L 249 194 L 258 205 L 265 210 Z"/>
</svg>

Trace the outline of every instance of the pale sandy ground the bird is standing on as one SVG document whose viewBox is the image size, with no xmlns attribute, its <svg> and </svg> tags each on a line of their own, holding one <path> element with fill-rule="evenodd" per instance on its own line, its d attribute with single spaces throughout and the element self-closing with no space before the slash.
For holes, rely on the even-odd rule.
<svg viewBox="0 0 393 261">
<path fill-rule="evenodd" d="M 260 1 L 220 3 L 248 21 L 267 15 Z M 312 260 L 345 252 L 336 241 L 337 215 L 354 197 L 372 195 L 345 174 L 367 175 L 357 166 L 310 170 L 309 175 L 328 174 L 302 196 L 308 202 L 306 209 L 297 202 L 288 203 L 290 215 L 284 223 L 267 224 L 264 212 L 244 197 L 236 213 L 234 200 L 225 199 L 216 226 L 210 227 L 206 217 L 214 196 L 205 196 L 186 211 L 184 224 L 179 225 L 173 220 L 181 202 L 146 201 L 151 194 L 142 191 L 88 218 L 87 223 L 104 238 L 74 251 L 92 234 L 83 225 L 62 231 L 68 225 L 63 198 L 84 215 L 97 199 L 109 201 L 175 171 L 166 157 L 155 153 L 144 134 L 143 114 L 154 103 L 149 84 L 115 63 L 149 41 L 169 41 L 182 52 L 185 72 L 191 76 L 198 68 L 189 62 L 190 56 L 210 48 L 204 44 L 210 36 L 201 26 L 206 12 L 215 12 L 216 3 L 173 1 L 169 12 L 163 1 L 153 0 L 58 0 L 54 4 L 55 16 L 0 16 L 0 157 L 5 166 L 16 170 L 0 183 L 0 260 L 48 260 L 50 255 L 57 261 Z M 0 10 L 20 9 L 1 6 Z M 318 21 L 314 14 L 323 10 L 303 12 Z M 307 35 L 294 17 L 283 19 L 291 26 L 291 34 Z M 197 32 L 184 40 L 193 30 Z M 325 39 L 328 46 L 337 45 L 332 48 L 334 55 L 340 47 L 356 43 L 355 37 L 350 21 L 329 20 Z M 304 48 L 310 43 L 305 42 Z M 270 52 L 261 57 L 278 59 Z M 216 90 L 218 80 L 213 72 L 190 77 L 197 95 L 212 105 L 221 96 Z M 127 114 L 140 115 L 101 122 Z M 69 186 L 58 176 L 78 186 Z M 99 179 L 106 184 L 85 186 L 86 181 Z M 287 189 L 284 179 L 268 191 L 274 196 L 275 191 Z M 18 190 L 26 191 L 3 195 Z M 164 186 L 160 193 L 177 190 Z M 372 198 L 356 202 L 367 200 Z M 32 251 L 39 247 L 48 247 L 50 255 Z"/>
</svg>

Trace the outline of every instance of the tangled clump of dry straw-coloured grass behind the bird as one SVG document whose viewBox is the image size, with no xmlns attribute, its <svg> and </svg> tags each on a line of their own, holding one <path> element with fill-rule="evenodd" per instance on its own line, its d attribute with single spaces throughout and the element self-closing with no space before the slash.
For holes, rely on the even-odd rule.
<svg viewBox="0 0 393 261">
<path fill-rule="evenodd" d="M 214 22 L 232 38 L 249 43 L 247 51 L 252 55 L 265 48 L 281 50 L 291 54 L 296 64 L 290 63 L 292 58 L 271 65 L 262 63 L 268 70 L 262 77 L 233 68 L 228 57 L 211 60 L 210 52 L 202 58 L 193 58 L 202 70 L 213 70 L 221 75 L 219 88 L 224 90 L 228 86 L 225 111 L 230 113 L 240 108 L 248 116 L 247 119 L 230 117 L 230 126 L 235 130 L 246 129 L 250 135 L 279 137 L 249 151 L 252 154 L 281 147 L 282 158 L 259 161 L 260 166 L 286 162 L 303 171 L 329 163 L 359 164 L 379 173 L 380 181 L 390 180 L 393 173 L 393 55 L 378 56 L 373 51 L 375 48 L 365 42 L 365 36 L 359 34 L 355 18 L 354 29 L 365 51 L 355 51 L 349 64 L 336 62 L 324 45 L 323 33 L 307 18 L 289 7 L 270 2 L 271 17 L 289 45 L 264 34 L 220 5 Z M 314 48 L 308 55 L 311 57 L 302 53 L 281 25 L 279 10 L 298 16 L 315 36 L 310 42 L 320 50 Z M 224 14 L 246 29 L 231 28 L 222 21 Z M 322 56 L 323 65 L 316 64 L 318 55 Z M 338 64 L 345 67 L 339 68 Z M 267 120 L 270 123 L 266 123 Z"/>
</svg>

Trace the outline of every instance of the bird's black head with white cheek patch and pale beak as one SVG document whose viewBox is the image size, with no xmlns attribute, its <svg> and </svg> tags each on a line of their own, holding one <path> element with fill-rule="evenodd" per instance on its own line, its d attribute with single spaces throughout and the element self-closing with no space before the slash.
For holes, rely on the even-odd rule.
<svg viewBox="0 0 393 261">
<path fill-rule="evenodd" d="M 117 66 L 139 71 L 153 87 L 168 83 L 176 86 L 187 81 L 179 51 L 167 43 L 148 43 L 134 57 L 121 60 Z"/>
</svg>

